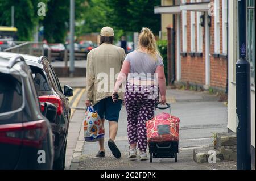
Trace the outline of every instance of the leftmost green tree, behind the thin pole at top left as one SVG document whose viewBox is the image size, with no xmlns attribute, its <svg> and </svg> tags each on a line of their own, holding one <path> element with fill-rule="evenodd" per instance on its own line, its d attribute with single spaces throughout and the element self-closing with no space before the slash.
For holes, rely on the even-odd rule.
<svg viewBox="0 0 256 181">
<path fill-rule="evenodd" d="M 15 27 L 20 41 L 31 41 L 35 26 L 42 17 L 37 15 L 38 3 L 49 0 L 0 0 L 0 25 L 11 26 L 11 6 L 15 9 Z"/>
</svg>

